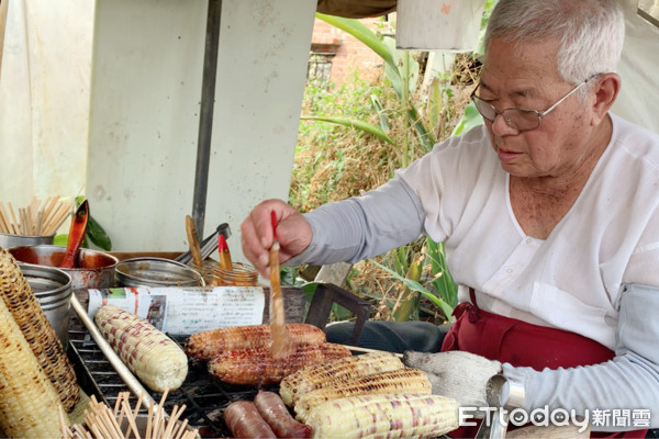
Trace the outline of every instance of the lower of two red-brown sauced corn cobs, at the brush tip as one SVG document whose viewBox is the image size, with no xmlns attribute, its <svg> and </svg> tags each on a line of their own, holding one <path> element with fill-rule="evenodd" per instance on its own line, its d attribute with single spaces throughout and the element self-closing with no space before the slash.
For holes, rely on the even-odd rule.
<svg viewBox="0 0 659 439">
<path fill-rule="evenodd" d="M 209 361 L 209 372 L 232 384 L 275 384 L 310 364 L 320 364 L 351 353 L 343 345 L 298 345 L 295 352 L 275 359 L 269 348 L 226 350 Z"/>
</svg>

